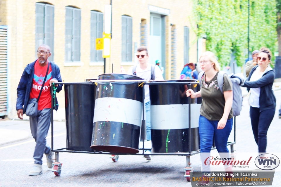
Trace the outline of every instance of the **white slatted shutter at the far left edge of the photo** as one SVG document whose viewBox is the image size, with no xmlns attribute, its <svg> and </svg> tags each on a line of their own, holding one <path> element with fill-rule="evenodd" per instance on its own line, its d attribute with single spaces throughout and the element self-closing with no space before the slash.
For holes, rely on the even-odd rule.
<svg viewBox="0 0 281 187">
<path fill-rule="evenodd" d="M 7 26 L 0 25 L 0 116 L 8 115 Z"/>
</svg>

